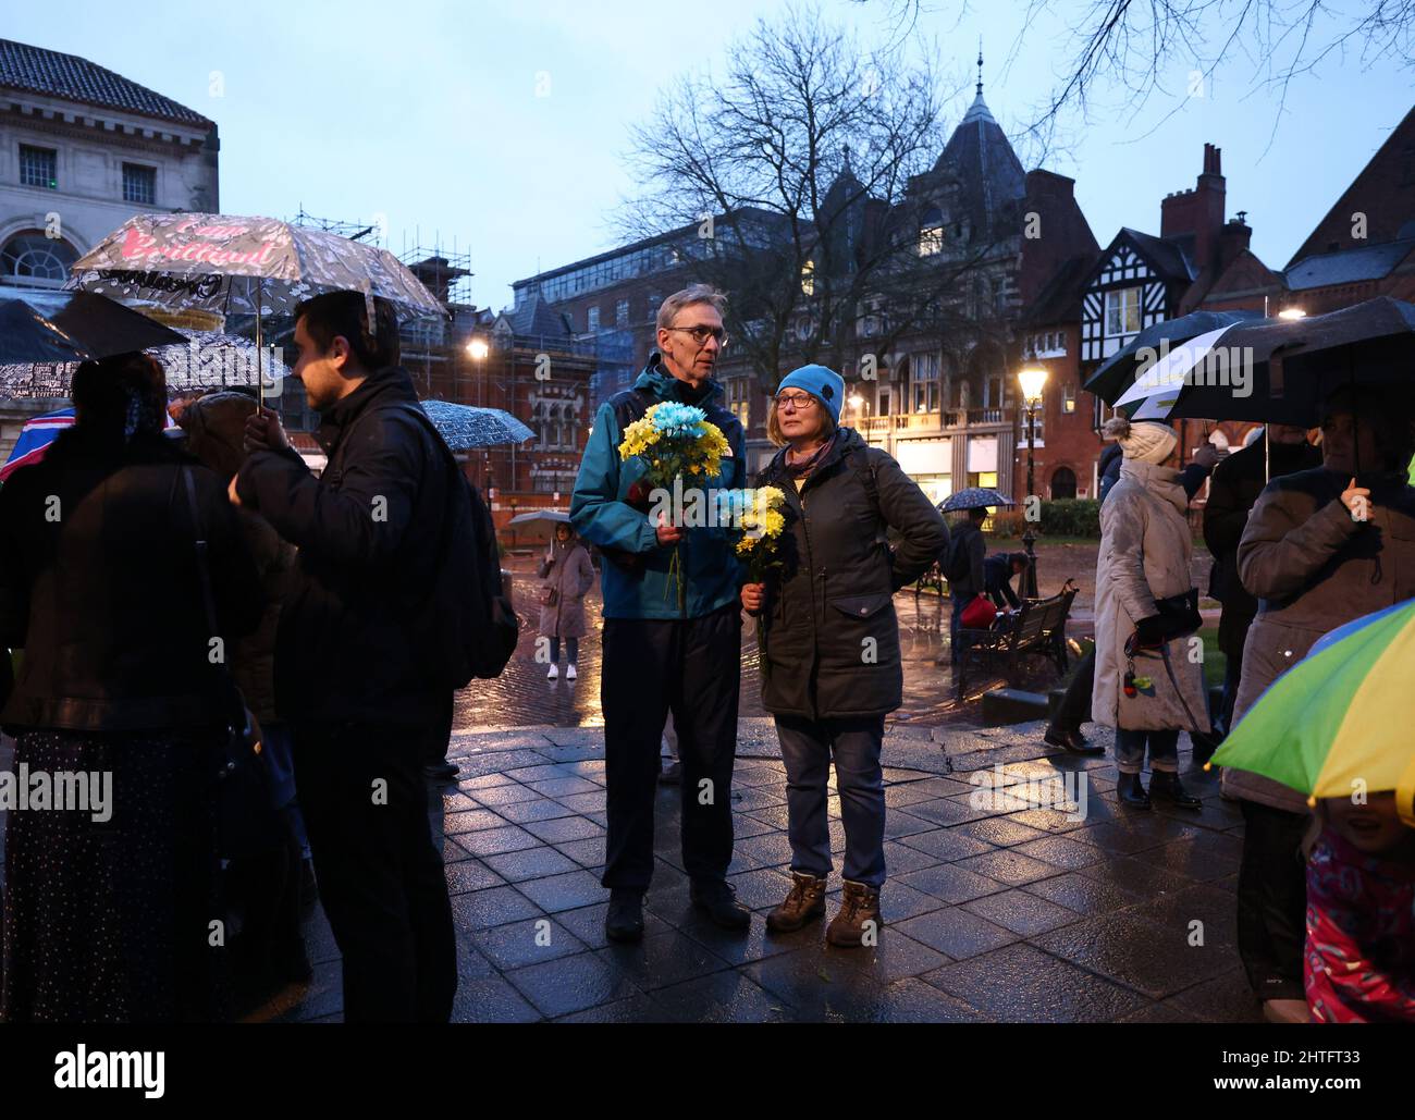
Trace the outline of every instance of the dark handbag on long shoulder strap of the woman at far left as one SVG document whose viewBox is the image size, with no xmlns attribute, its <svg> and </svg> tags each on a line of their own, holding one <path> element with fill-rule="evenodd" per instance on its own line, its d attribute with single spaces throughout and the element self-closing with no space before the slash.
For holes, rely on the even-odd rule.
<svg viewBox="0 0 1415 1120">
<path fill-rule="evenodd" d="M 219 632 L 216 604 L 211 593 L 211 568 L 207 563 L 207 539 L 197 506 L 197 484 L 192 481 L 190 467 L 183 467 L 181 472 L 195 532 L 197 581 L 201 587 L 207 632 L 216 635 Z M 214 775 L 216 851 L 222 858 L 231 860 L 270 847 L 275 779 L 260 745 L 259 725 L 246 707 L 235 677 L 231 676 L 225 660 L 216 662 L 215 666 L 226 703 L 221 752 Z"/>
</svg>

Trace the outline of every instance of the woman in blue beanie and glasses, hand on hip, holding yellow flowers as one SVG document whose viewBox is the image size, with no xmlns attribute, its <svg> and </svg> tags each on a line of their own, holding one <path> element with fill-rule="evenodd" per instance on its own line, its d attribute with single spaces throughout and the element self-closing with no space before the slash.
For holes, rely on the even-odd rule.
<svg viewBox="0 0 1415 1120">
<path fill-rule="evenodd" d="M 826 813 L 835 761 L 845 824 L 841 911 L 832 945 L 877 945 L 884 884 L 884 716 L 903 700 L 893 593 L 948 544 L 944 519 L 918 485 L 859 433 L 839 428 L 845 382 L 809 365 L 781 380 L 767 431 L 784 444 L 757 475 L 787 499 L 770 584 L 743 587 L 758 617 L 761 703 L 777 721 L 787 766 L 791 891 L 767 918 L 787 932 L 825 914 L 831 873 Z M 900 535 L 890 550 L 887 532 Z"/>
</svg>

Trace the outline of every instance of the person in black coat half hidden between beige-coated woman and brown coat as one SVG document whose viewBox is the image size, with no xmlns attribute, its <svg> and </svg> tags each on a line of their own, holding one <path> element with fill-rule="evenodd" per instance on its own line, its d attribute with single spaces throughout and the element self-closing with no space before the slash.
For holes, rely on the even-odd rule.
<svg viewBox="0 0 1415 1120">
<path fill-rule="evenodd" d="M 1271 462 L 1266 457 L 1268 434 L 1272 436 Z M 1306 428 L 1292 424 L 1268 424 L 1266 430 L 1241 451 L 1214 468 L 1204 505 L 1204 543 L 1214 557 L 1208 580 L 1210 597 L 1223 604 L 1218 618 L 1218 648 L 1224 652 L 1224 700 L 1214 721 L 1215 740 L 1228 734 L 1234 701 L 1242 673 L 1242 643 L 1258 614 L 1258 600 L 1238 578 L 1238 542 L 1248 525 L 1248 512 L 1269 478 L 1322 465 L 1322 453 L 1307 443 Z M 1206 759 L 1201 759 L 1206 761 Z"/>
</svg>

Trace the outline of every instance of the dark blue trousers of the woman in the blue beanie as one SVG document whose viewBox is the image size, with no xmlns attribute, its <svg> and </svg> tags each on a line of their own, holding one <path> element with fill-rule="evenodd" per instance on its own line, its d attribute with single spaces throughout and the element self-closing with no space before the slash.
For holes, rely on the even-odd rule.
<svg viewBox="0 0 1415 1120">
<path fill-rule="evenodd" d="M 831 820 L 826 812 L 831 757 L 845 824 L 845 878 L 879 889 L 884 884 L 884 717 L 841 720 L 777 717 L 781 761 L 787 766 L 787 832 L 791 870 L 831 874 Z"/>
</svg>

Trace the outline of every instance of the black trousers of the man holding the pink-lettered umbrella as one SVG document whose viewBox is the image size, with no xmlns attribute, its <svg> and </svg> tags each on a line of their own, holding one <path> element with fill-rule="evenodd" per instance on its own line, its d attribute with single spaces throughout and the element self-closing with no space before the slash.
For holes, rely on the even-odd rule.
<svg viewBox="0 0 1415 1120">
<path fill-rule="evenodd" d="M 300 807 L 320 901 L 344 955 L 345 1022 L 446 1022 L 457 945 L 427 824 L 427 731 L 300 724 Z"/>
</svg>

